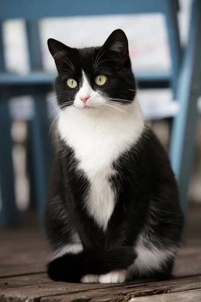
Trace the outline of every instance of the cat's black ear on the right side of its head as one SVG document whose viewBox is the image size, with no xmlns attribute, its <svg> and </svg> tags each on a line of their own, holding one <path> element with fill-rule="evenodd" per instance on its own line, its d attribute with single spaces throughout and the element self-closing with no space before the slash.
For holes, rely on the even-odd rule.
<svg viewBox="0 0 201 302">
<path fill-rule="evenodd" d="M 107 49 L 116 53 L 122 61 L 126 61 L 129 58 L 129 44 L 126 34 L 121 29 L 116 29 L 108 37 L 103 45 L 104 51 Z"/>
</svg>

